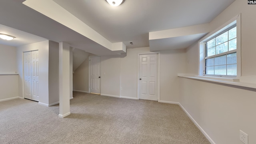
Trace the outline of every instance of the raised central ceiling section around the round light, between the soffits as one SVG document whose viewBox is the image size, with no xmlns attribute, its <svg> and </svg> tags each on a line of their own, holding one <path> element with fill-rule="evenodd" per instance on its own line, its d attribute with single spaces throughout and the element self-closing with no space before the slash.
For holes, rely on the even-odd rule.
<svg viewBox="0 0 256 144">
<path fill-rule="evenodd" d="M 110 42 L 127 48 L 149 46 L 148 32 L 210 22 L 234 0 L 54 0 Z M 132 41 L 134 45 L 130 45 Z"/>
</svg>

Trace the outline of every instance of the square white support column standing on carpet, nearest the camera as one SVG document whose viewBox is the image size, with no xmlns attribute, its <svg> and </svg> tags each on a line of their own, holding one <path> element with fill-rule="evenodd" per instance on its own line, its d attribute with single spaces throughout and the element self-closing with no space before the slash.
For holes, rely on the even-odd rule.
<svg viewBox="0 0 256 144">
<path fill-rule="evenodd" d="M 64 118 L 70 114 L 70 45 L 59 42 L 60 114 Z"/>
</svg>

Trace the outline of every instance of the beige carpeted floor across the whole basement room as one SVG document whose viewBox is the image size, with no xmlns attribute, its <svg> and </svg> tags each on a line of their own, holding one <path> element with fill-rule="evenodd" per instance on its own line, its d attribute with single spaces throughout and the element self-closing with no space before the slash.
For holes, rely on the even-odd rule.
<svg viewBox="0 0 256 144">
<path fill-rule="evenodd" d="M 74 92 L 71 114 L 31 100 L 0 102 L 0 144 L 210 144 L 180 106 Z"/>
</svg>

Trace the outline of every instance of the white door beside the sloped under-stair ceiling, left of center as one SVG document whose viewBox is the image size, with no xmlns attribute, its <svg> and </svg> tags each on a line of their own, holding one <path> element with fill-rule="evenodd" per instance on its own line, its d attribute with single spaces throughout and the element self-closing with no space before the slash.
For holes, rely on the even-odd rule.
<svg viewBox="0 0 256 144">
<path fill-rule="evenodd" d="M 100 94 L 100 57 L 90 57 L 90 92 Z"/>
</svg>

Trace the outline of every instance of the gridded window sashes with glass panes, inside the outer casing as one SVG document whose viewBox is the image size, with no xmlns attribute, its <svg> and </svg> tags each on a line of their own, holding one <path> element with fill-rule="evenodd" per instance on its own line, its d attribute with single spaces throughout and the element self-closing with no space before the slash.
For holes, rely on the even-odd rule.
<svg viewBox="0 0 256 144">
<path fill-rule="evenodd" d="M 205 44 L 205 74 L 236 76 L 236 24 L 210 38 Z"/>
</svg>

